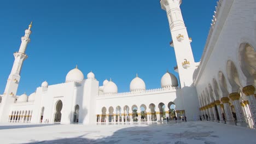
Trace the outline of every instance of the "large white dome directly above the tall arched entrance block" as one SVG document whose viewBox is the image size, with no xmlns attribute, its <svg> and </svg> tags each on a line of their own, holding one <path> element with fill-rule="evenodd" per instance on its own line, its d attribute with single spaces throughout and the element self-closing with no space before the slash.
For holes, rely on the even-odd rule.
<svg viewBox="0 0 256 144">
<path fill-rule="evenodd" d="M 82 82 L 84 80 L 84 74 L 77 67 L 68 72 L 66 76 L 66 82 Z"/>
</svg>

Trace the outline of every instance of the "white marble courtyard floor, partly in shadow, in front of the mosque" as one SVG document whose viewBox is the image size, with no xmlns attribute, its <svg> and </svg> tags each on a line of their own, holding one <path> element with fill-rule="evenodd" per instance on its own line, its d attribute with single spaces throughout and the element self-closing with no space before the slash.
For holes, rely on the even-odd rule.
<svg viewBox="0 0 256 144">
<path fill-rule="evenodd" d="M 256 130 L 214 122 L 169 124 L 0 123 L 0 143 L 256 143 Z"/>
</svg>

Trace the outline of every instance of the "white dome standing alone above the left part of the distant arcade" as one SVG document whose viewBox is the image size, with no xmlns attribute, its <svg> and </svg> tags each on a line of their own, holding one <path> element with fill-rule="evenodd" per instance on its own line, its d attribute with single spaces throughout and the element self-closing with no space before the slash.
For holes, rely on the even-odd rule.
<svg viewBox="0 0 256 144">
<path fill-rule="evenodd" d="M 145 82 L 141 78 L 139 78 L 137 75 L 130 83 L 130 91 L 135 92 L 135 91 L 145 91 L 145 90 L 146 90 Z"/>
</svg>

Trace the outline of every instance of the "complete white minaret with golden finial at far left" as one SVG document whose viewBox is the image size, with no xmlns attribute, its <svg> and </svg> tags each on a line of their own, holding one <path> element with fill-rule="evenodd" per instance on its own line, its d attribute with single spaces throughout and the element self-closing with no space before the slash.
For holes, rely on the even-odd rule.
<svg viewBox="0 0 256 144">
<path fill-rule="evenodd" d="M 20 82 L 20 72 L 24 60 L 27 58 L 25 54 L 27 49 L 27 44 L 30 43 L 30 34 L 31 34 L 32 22 L 28 25 L 28 29 L 25 30 L 24 37 L 21 37 L 21 45 L 19 52 L 15 52 L 13 68 L 8 77 L 7 84 L 5 86 L 4 94 L 2 95 L 2 105 L 0 107 L 0 121 L 8 121 L 9 107 L 10 104 L 15 103 L 16 93 L 18 90 Z"/>
</svg>

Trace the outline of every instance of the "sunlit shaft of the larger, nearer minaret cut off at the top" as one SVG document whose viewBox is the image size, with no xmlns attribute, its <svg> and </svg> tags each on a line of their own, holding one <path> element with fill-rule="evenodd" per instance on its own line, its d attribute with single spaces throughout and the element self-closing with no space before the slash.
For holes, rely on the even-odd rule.
<svg viewBox="0 0 256 144">
<path fill-rule="evenodd" d="M 181 8 L 182 0 L 161 0 L 161 8 L 167 13 L 170 31 L 172 35 L 171 46 L 174 47 L 177 69 L 181 87 L 191 86 L 195 70 L 194 56 L 191 50 L 191 38 L 185 27 Z"/>
</svg>

